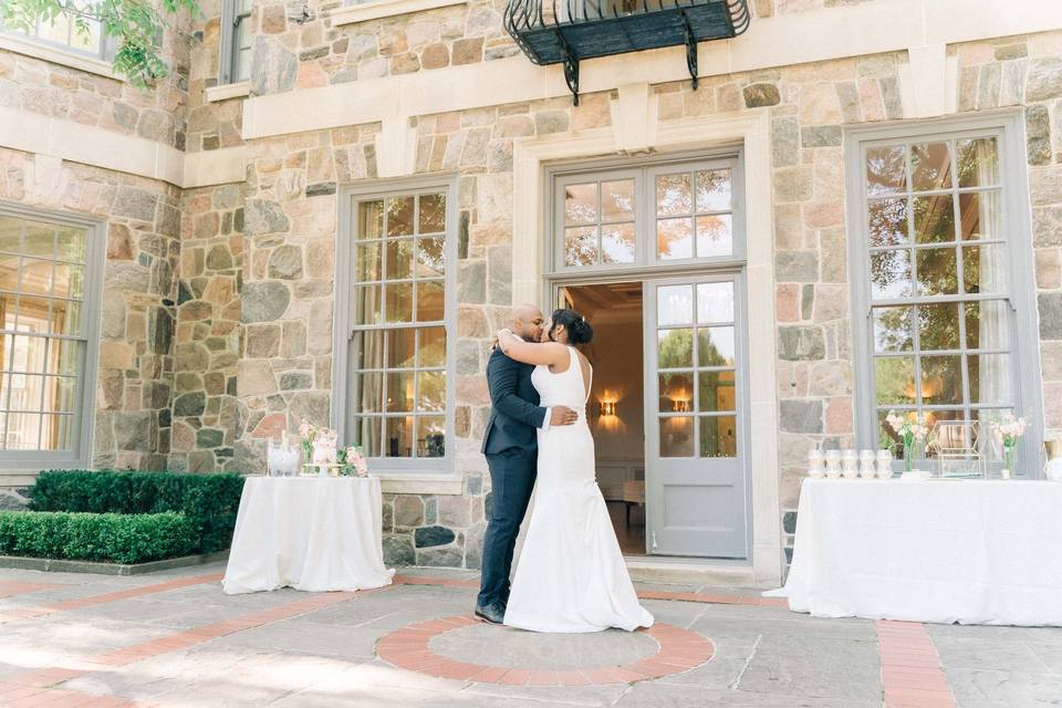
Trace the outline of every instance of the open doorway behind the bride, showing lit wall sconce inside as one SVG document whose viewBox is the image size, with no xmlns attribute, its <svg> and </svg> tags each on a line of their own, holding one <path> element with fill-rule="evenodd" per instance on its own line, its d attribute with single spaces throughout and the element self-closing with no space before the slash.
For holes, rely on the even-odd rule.
<svg viewBox="0 0 1062 708">
<path fill-rule="evenodd" d="M 561 288 L 561 300 L 594 327 L 583 353 L 594 366 L 586 418 L 594 434 L 597 486 L 625 555 L 645 543 L 645 407 L 642 283 Z"/>
</svg>

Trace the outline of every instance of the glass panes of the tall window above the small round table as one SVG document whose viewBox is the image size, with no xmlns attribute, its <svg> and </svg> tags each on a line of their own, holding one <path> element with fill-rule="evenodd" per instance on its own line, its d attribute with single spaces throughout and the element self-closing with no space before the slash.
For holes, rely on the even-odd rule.
<svg viewBox="0 0 1062 708">
<path fill-rule="evenodd" d="M 347 430 L 371 457 L 446 454 L 447 197 L 355 205 Z"/>
</svg>

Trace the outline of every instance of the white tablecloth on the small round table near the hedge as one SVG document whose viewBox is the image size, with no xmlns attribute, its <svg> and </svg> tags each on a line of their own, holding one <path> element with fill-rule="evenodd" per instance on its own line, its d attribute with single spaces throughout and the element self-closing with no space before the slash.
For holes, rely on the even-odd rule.
<svg viewBox="0 0 1062 708">
<path fill-rule="evenodd" d="M 395 571 L 384 568 L 382 537 L 374 477 L 249 477 L 222 585 L 230 595 L 383 587 Z"/>
</svg>

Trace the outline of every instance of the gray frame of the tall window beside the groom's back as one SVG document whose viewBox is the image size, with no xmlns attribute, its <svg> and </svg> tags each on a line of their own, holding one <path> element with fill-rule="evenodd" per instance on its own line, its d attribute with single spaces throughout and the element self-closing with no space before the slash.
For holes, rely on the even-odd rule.
<svg viewBox="0 0 1062 708">
<path fill-rule="evenodd" d="M 354 221 L 357 218 L 357 204 L 361 201 L 372 201 L 375 199 L 416 195 L 424 192 L 444 192 L 446 194 L 446 243 L 445 259 L 446 273 L 442 281 L 444 290 L 444 319 L 442 326 L 446 330 L 446 405 L 444 409 L 444 421 L 446 428 L 445 446 L 446 451 L 442 457 L 434 458 L 389 458 L 374 457 L 371 460 L 371 467 L 374 470 L 386 472 L 409 472 L 409 473 L 449 473 L 455 465 L 455 446 L 457 436 L 454 434 L 455 425 L 455 394 L 456 384 L 456 358 L 455 351 L 457 346 L 457 270 L 459 261 L 457 258 L 458 239 L 458 183 L 456 176 L 433 176 L 425 178 L 399 178 L 389 180 L 373 180 L 372 184 L 350 185 L 340 189 L 340 214 L 337 230 L 339 238 L 335 247 L 335 310 L 333 326 L 333 371 L 332 371 L 332 405 L 331 418 L 340 436 L 340 444 L 346 445 L 351 439 L 351 423 L 356 415 L 347 413 L 347 400 L 352 399 L 352 376 L 353 369 L 351 356 L 353 347 L 351 342 L 354 339 L 355 331 L 366 329 L 394 330 L 395 323 L 388 326 L 387 323 L 375 327 L 356 326 L 353 321 L 353 299 L 355 288 L 357 287 L 355 248 L 354 248 Z M 399 325 L 402 326 L 402 325 Z M 409 369 L 419 371 L 419 369 Z M 386 417 L 386 416 L 385 416 Z"/>
</svg>

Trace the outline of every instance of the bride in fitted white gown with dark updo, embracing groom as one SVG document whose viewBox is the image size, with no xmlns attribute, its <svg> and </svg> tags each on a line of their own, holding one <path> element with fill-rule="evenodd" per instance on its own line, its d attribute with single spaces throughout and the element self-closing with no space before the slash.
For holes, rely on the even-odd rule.
<svg viewBox="0 0 1062 708">
<path fill-rule="evenodd" d="M 574 425 L 539 431 L 534 506 L 506 610 L 504 622 L 513 627 L 600 632 L 653 626 L 653 615 L 634 593 L 594 479 L 594 438 L 585 413 L 593 369 L 575 350 L 593 336 L 574 310 L 555 311 L 539 344 L 509 330 L 498 333 L 506 355 L 535 365 L 531 383 L 542 406 L 580 412 Z"/>
</svg>

